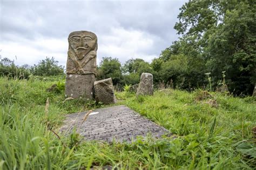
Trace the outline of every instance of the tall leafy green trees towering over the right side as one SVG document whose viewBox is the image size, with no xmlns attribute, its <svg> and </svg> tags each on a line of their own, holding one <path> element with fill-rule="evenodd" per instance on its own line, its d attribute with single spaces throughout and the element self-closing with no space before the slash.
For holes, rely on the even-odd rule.
<svg viewBox="0 0 256 170">
<path fill-rule="evenodd" d="M 181 37 L 160 58 L 167 62 L 173 55 L 185 55 L 187 72 L 196 80 L 192 86 L 202 85 L 203 77 L 197 79 L 198 75 L 212 72 L 215 87 L 225 70 L 230 91 L 252 94 L 256 80 L 255 9 L 255 1 L 185 3 L 174 26 Z"/>
</svg>

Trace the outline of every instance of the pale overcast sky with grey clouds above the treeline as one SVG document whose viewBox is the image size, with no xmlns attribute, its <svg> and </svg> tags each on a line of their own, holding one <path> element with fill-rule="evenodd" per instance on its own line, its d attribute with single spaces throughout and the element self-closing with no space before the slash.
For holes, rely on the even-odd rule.
<svg viewBox="0 0 256 170">
<path fill-rule="evenodd" d="M 37 64 L 55 57 L 66 65 L 68 35 L 86 30 L 98 37 L 103 57 L 153 58 L 178 38 L 174 24 L 185 1 L 11 1 L 0 0 L 0 55 Z"/>
</svg>

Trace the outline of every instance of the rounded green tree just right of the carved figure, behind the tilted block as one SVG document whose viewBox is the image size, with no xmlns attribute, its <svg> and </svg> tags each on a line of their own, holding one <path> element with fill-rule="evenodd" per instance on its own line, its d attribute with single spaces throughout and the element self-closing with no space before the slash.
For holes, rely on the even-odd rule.
<svg viewBox="0 0 256 170">
<path fill-rule="evenodd" d="M 97 79 L 112 78 L 113 84 L 123 84 L 121 63 L 117 58 L 103 57 L 97 69 Z"/>
</svg>

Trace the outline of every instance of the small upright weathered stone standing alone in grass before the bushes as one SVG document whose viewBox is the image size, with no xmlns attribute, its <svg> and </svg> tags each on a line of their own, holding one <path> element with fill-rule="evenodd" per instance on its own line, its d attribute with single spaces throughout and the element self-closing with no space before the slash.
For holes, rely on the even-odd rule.
<svg viewBox="0 0 256 170">
<path fill-rule="evenodd" d="M 136 95 L 153 95 L 153 75 L 142 73 Z"/>
</svg>

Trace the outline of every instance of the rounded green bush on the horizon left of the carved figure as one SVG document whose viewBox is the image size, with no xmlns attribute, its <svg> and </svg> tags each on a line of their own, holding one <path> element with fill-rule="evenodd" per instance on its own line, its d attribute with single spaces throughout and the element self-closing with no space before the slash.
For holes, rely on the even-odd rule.
<svg viewBox="0 0 256 170">
<path fill-rule="evenodd" d="M 56 76 L 64 73 L 64 67 L 58 66 L 58 61 L 53 57 L 46 57 L 46 59 L 34 65 L 31 68 L 31 72 L 35 76 Z"/>
</svg>

